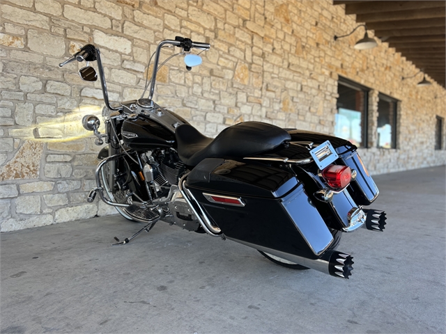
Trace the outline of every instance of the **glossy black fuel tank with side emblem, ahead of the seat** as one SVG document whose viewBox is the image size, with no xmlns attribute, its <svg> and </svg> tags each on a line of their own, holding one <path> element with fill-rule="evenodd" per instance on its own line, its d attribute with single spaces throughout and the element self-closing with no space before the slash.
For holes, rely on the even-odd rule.
<svg viewBox="0 0 446 334">
<path fill-rule="evenodd" d="M 124 144 L 132 150 L 171 148 L 175 144 L 174 132 L 144 115 L 127 118 L 121 128 L 121 136 Z"/>
</svg>

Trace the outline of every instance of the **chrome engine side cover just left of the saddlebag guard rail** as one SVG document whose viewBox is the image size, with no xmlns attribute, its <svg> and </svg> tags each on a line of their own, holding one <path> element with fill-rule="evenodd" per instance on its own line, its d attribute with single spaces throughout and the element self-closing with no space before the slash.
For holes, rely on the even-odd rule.
<svg viewBox="0 0 446 334">
<path fill-rule="evenodd" d="M 173 217 L 173 223 L 189 231 L 197 231 L 200 228 L 200 223 L 197 216 L 187 204 L 186 200 L 181 195 L 178 189 L 174 190 L 174 195 L 169 202 L 169 210 Z"/>
</svg>

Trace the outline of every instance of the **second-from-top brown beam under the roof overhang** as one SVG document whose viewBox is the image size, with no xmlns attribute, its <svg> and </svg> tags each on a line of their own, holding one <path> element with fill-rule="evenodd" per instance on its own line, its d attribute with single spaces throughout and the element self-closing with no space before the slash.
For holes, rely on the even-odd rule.
<svg viewBox="0 0 446 334">
<path fill-rule="evenodd" d="M 437 3 L 437 8 L 358 14 L 356 15 L 356 22 L 386 22 L 404 19 L 431 19 L 434 17 L 445 17 L 445 1 L 437 1 Z"/>
</svg>

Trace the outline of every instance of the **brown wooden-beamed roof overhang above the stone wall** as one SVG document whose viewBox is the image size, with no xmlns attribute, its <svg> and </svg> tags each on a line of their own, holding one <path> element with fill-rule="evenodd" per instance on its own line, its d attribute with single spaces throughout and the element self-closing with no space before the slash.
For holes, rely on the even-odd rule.
<svg viewBox="0 0 446 334">
<path fill-rule="evenodd" d="M 345 5 L 347 15 L 355 14 L 357 23 L 367 24 L 377 38 L 445 87 L 446 1 L 334 0 L 333 4 Z"/>
</svg>

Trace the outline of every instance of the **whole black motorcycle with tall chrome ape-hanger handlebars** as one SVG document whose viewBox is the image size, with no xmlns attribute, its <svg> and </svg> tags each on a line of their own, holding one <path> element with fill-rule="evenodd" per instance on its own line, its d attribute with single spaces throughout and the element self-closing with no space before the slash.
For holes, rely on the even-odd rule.
<svg viewBox="0 0 446 334">
<path fill-rule="evenodd" d="M 164 47 L 180 51 L 160 64 Z M 342 232 L 364 226 L 383 231 L 385 213 L 364 209 L 378 188 L 345 139 L 265 122 L 241 122 L 215 138 L 203 136 L 187 120 L 153 101 L 157 71 L 173 56 L 183 56 L 187 70 L 201 63 L 192 49 L 210 45 L 176 37 L 163 40 L 151 57 L 148 97 L 111 104 L 100 50 L 86 45 L 67 61 L 86 61 L 82 79 L 97 80 L 104 95 L 105 134 L 100 120 L 85 116 L 98 154 L 97 186 L 88 202 L 100 199 L 144 228 L 118 241 L 127 244 L 157 221 L 259 250 L 283 267 L 316 269 L 348 278 L 353 257 L 337 251 Z M 151 61 L 149 61 L 150 65 Z M 146 92 L 146 90 L 144 92 Z"/>
</svg>

